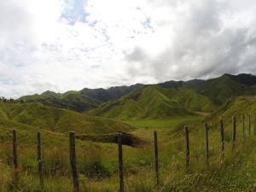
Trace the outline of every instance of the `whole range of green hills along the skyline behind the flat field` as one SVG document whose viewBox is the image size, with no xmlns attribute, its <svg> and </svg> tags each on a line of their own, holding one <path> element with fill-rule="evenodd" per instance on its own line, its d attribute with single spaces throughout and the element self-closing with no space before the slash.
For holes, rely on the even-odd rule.
<svg viewBox="0 0 256 192">
<path fill-rule="evenodd" d="M 212 112 L 234 96 L 256 94 L 256 76 L 224 74 L 214 79 L 134 84 L 109 89 L 67 91 L 63 94 L 21 96 L 20 102 L 41 102 L 55 108 L 113 119 L 166 119 Z"/>
</svg>

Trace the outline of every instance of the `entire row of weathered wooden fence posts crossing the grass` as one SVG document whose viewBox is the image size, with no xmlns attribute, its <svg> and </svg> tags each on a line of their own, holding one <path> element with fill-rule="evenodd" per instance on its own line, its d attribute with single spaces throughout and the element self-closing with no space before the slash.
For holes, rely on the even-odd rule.
<svg viewBox="0 0 256 192">
<path fill-rule="evenodd" d="M 241 126 L 242 126 L 242 139 L 245 140 L 245 117 L 241 117 Z M 224 123 L 221 119 L 219 121 L 220 127 L 220 153 L 224 154 Z M 256 119 L 254 115 L 254 136 L 256 134 Z M 208 125 L 207 122 L 204 122 L 204 136 L 205 136 L 205 160 L 206 165 L 208 164 L 209 157 L 209 144 L 208 144 Z M 251 119 L 250 115 L 248 115 L 248 135 L 251 133 Z M 189 151 L 189 127 L 186 125 L 184 128 L 185 134 L 185 164 L 187 169 L 189 170 L 190 164 L 190 151 Z M 43 158 L 42 158 L 42 144 L 41 144 L 41 133 L 37 134 L 37 149 L 38 149 L 38 177 L 40 181 L 40 186 L 44 189 L 44 167 L 43 167 Z M 73 176 L 73 190 L 79 191 L 79 174 L 77 170 L 77 160 L 76 160 L 76 146 L 75 146 L 75 132 L 69 132 L 69 154 L 70 154 L 70 167 Z M 15 177 L 19 177 L 18 170 L 18 151 L 17 151 L 17 131 L 13 130 L 13 164 L 15 168 Z M 232 116 L 232 148 L 236 148 L 236 116 Z M 154 131 L 154 186 L 157 187 L 159 185 L 159 153 L 158 153 L 158 138 L 157 131 Z M 119 191 L 125 191 L 125 183 L 124 183 L 124 166 L 123 166 L 123 143 L 122 143 L 122 133 L 118 133 L 118 162 L 119 167 L 117 168 L 119 172 Z"/>
</svg>

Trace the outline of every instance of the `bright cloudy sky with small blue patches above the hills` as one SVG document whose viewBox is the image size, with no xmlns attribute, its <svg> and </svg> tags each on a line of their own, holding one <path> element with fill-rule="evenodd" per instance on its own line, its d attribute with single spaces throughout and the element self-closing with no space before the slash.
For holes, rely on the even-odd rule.
<svg viewBox="0 0 256 192">
<path fill-rule="evenodd" d="M 256 74 L 253 0 L 0 0 L 0 96 Z"/>
</svg>

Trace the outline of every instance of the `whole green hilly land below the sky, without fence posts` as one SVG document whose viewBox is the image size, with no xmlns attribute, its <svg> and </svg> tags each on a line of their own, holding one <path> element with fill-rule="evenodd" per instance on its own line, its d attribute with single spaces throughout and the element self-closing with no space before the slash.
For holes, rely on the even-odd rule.
<svg viewBox="0 0 256 192">
<path fill-rule="evenodd" d="M 48 91 L 0 102 L 1 190 L 73 191 L 68 133 L 75 131 L 80 191 L 119 191 L 119 132 L 124 138 L 125 191 L 253 191 L 255 85 L 252 75 L 224 74 L 209 80 L 108 90 Z M 232 148 L 234 115 L 236 148 Z M 224 122 L 224 154 L 220 119 Z M 204 122 L 209 127 L 207 161 Z M 189 168 L 185 164 L 185 125 L 189 127 Z M 18 169 L 13 165 L 13 130 L 17 131 Z M 158 185 L 153 131 L 158 136 Z M 44 186 L 38 177 L 38 132 L 42 137 Z"/>
</svg>

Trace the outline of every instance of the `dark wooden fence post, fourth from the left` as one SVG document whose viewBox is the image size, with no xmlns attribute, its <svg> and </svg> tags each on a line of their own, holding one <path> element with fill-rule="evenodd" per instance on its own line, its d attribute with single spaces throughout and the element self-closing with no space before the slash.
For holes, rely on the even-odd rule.
<svg viewBox="0 0 256 192">
<path fill-rule="evenodd" d="M 122 133 L 118 134 L 118 148 L 119 148 L 119 191 L 124 190 L 124 167 L 123 167 L 123 146 L 122 146 Z"/>
</svg>

